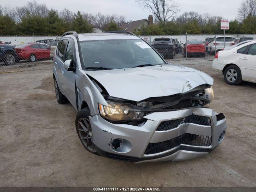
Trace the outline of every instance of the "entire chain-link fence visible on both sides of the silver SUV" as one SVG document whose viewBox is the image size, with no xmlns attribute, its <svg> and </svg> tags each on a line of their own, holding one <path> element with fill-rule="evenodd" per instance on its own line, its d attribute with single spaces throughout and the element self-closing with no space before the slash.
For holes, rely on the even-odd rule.
<svg viewBox="0 0 256 192">
<path fill-rule="evenodd" d="M 254 39 L 246 35 L 173 35 L 141 36 L 165 59 L 214 58 L 220 50 L 229 50 L 236 44 Z M 0 66 L 19 62 L 50 60 L 54 56 L 58 36 L 0 36 Z"/>
</svg>

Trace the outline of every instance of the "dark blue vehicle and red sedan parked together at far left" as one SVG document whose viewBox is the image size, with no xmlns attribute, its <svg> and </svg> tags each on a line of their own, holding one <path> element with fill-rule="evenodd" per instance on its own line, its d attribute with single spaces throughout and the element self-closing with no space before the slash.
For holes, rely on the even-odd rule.
<svg viewBox="0 0 256 192">
<path fill-rule="evenodd" d="M 51 47 L 43 43 L 28 43 L 18 46 L 0 45 L 0 62 L 13 65 L 20 60 L 35 62 L 40 59 L 50 59 Z"/>
</svg>

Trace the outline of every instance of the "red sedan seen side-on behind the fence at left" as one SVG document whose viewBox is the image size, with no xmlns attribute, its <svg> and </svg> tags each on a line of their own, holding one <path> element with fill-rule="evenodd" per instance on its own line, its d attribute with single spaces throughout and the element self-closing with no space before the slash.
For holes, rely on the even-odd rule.
<svg viewBox="0 0 256 192">
<path fill-rule="evenodd" d="M 39 43 L 21 44 L 15 47 L 19 60 L 32 62 L 40 59 L 50 59 L 50 46 Z"/>
</svg>

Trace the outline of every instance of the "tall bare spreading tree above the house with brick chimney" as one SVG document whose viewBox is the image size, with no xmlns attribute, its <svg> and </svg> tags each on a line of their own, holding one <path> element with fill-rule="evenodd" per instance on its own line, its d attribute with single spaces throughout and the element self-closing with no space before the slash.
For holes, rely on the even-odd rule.
<svg viewBox="0 0 256 192">
<path fill-rule="evenodd" d="M 175 0 L 135 0 L 148 9 L 163 24 L 180 11 Z"/>
</svg>

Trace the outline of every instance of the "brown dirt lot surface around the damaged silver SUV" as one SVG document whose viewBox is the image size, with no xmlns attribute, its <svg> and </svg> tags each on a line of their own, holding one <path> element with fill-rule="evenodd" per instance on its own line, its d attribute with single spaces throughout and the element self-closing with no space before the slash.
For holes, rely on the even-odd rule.
<svg viewBox="0 0 256 192">
<path fill-rule="evenodd" d="M 145 164 L 90 154 L 76 111 L 56 102 L 52 62 L 0 66 L 0 186 L 256 186 L 256 84 L 227 85 L 212 58 L 172 62 L 214 78 L 210 107 L 226 114 L 228 130 L 211 154 Z"/>
</svg>

